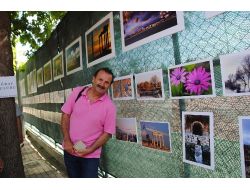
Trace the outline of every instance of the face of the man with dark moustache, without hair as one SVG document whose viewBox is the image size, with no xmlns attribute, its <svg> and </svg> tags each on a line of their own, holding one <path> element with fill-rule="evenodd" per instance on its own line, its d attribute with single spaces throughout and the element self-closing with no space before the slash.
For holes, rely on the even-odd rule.
<svg viewBox="0 0 250 190">
<path fill-rule="evenodd" d="M 96 77 L 93 77 L 93 87 L 100 94 L 105 94 L 112 82 L 112 75 L 105 71 L 99 71 Z"/>
</svg>

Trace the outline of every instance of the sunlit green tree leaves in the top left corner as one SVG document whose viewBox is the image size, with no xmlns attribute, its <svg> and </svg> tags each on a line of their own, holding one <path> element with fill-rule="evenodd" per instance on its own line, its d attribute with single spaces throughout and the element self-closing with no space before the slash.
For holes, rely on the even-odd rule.
<svg viewBox="0 0 250 190">
<path fill-rule="evenodd" d="M 23 45 L 30 45 L 31 55 L 50 37 L 55 26 L 65 15 L 62 11 L 19 11 L 11 12 L 11 41 L 15 47 L 19 39 Z"/>
</svg>

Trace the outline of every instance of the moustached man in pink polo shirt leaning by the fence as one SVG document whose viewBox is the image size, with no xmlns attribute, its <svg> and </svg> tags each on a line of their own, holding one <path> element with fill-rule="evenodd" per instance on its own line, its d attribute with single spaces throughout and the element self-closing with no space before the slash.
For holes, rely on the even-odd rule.
<svg viewBox="0 0 250 190">
<path fill-rule="evenodd" d="M 114 75 L 108 68 L 97 70 L 92 87 L 77 87 L 62 106 L 64 162 L 69 177 L 98 177 L 101 147 L 115 133 L 116 108 L 107 95 Z M 77 150 L 82 141 L 86 148 Z"/>
</svg>

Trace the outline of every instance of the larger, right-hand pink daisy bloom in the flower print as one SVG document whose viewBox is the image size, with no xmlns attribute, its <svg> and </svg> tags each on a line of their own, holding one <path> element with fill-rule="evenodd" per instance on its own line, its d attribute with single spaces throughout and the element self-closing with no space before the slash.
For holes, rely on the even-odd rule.
<svg viewBox="0 0 250 190">
<path fill-rule="evenodd" d="M 210 72 L 206 72 L 202 66 L 195 68 L 186 77 L 185 88 L 190 94 L 201 95 L 204 91 L 209 90 L 211 86 Z"/>
</svg>

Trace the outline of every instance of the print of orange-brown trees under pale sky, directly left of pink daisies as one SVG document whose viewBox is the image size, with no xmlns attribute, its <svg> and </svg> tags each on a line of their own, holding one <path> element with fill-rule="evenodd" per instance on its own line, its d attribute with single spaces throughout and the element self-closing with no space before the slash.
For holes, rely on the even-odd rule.
<svg viewBox="0 0 250 190">
<path fill-rule="evenodd" d="M 164 100 L 162 69 L 135 74 L 137 100 Z"/>
</svg>

